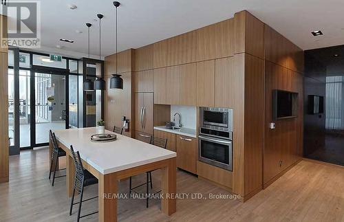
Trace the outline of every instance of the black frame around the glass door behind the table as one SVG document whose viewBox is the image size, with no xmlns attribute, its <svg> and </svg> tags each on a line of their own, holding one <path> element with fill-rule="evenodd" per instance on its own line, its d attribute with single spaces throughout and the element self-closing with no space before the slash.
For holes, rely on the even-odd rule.
<svg viewBox="0 0 344 222">
<path fill-rule="evenodd" d="M 32 56 L 32 54 L 30 54 Z M 52 74 L 65 76 L 65 129 L 69 128 L 69 69 L 61 69 L 55 67 L 45 67 L 41 65 L 32 65 L 30 73 L 30 113 L 31 115 L 31 133 L 30 133 L 30 148 L 39 146 L 48 146 L 49 142 L 36 144 L 36 88 L 35 88 L 35 73 Z M 48 132 L 47 132 L 48 133 Z"/>
</svg>

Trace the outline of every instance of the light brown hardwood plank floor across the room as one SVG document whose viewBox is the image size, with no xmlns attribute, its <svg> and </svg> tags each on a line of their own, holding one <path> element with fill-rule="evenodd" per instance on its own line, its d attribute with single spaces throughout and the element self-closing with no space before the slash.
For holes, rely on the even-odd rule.
<svg viewBox="0 0 344 222">
<path fill-rule="evenodd" d="M 63 161 L 60 163 L 64 164 Z M 69 199 L 65 177 L 55 186 L 48 177 L 48 151 L 22 151 L 10 157 L 10 183 L 0 184 L 0 221 L 76 221 L 76 210 L 68 215 Z M 64 173 L 64 172 L 63 172 Z M 133 184 L 145 176 L 134 177 Z M 178 199 L 177 212 L 171 217 L 160 211 L 160 201 L 120 199 L 119 221 L 343 221 L 344 171 L 301 161 L 266 190 L 246 203 L 228 199 Z M 160 188 L 160 172 L 153 173 L 153 188 Z M 85 188 L 85 198 L 97 195 L 97 186 Z M 127 193 L 129 183 L 121 181 L 119 191 Z M 144 188 L 139 190 L 144 192 Z M 229 194 L 206 181 L 187 173 L 177 173 L 178 193 Z M 83 203 L 81 214 L 97 210 L 98 200 Z M 81 221 L 97 221 L 92 215 Z"/>
</svg>

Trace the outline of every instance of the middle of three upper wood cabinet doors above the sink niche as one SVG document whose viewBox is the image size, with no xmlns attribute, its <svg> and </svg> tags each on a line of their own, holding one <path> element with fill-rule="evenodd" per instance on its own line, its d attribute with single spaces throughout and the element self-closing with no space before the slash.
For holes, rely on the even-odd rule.
<svg viewBox="0 0 344 222">
<path fill-rule="evenodd" d="M 180 104 L 180 66 L 166 68 L 166 104 Z"/>
</svg>

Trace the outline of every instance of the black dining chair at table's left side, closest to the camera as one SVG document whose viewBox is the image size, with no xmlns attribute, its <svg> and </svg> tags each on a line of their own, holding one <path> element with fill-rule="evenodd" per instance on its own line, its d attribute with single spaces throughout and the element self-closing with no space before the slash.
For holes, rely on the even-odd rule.
<svg viewBox="0 0 344 222">
<path fill-rule="evenodd" d="M 96 177 L 94 177 L 94 175 L 92 175 L 92 173 L 89 173 L 88 170 L 83 168 L 83 162 L 81 162 L 80 153 L 79 153 L 79 151 L 75 152 L 73 146 L 70 146 L 70 153 L 71 153 L 71 155 L 73 157 L 73 161 L 74 161 L 75 176 L 74 176 L 72 201 L 70 202 L 70 208 L 69 208 L 69 216 L 72 215 L 73 206 L 75 204 L 79 204 L 77 221 L 80 221 L 80 218 L 87 217 L 89 215 L 98 213 L 98 211 L 96 211 L 96 212 L 92 212 L 90 214 L 85 214 L 83 216 L 80 216 L 81 203 L 83 203 L 85 201 L 89 201 L 91 199 L 96 199 L 98 197 L 97 196 L 97 197 L 92 197 L 92 198 L 83 200 L 84 188 L 85 188 L 85 186 L 98 184 L 98 179 Z M 76 203 L 74 203 L 75 192 L 77 192 L 78 195 L 80 195 L 80 199 Z"/>
</svg>

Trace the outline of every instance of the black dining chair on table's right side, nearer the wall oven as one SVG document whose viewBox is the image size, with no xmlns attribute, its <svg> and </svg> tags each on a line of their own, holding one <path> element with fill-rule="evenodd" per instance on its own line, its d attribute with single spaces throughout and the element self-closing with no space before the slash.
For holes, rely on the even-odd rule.
<svg viewBox="0 0 344 222">
<path fill-rule="evenodd" d="M 160 137 L 151 137 L 150 144 L 152 144 L 154 146 L 159 146 L 161 148 L 166 148 L 167 139 L 162 139 Z M 129 195 L 131 195 L 131 192 L 136 192 L 135 191 L 136 188 L 139 188 L 140 186 L 146 185 L 146 208 L 148 208 L 148 206 L 149 206 L 149 184 L 151 185 L 151 189 L 153 189 L 153 181 L 151 179 L 151 173 L 153 171 L 154 170 L 150 170 L 150 171 L 146 172 L 146 183 L 140 184 L 134 188 L 132 187 L 132 178 L 129 177 Z M 158 191 L 158 192 L 160 192 L 160 191 Z"/>
</svg>

